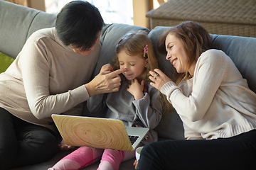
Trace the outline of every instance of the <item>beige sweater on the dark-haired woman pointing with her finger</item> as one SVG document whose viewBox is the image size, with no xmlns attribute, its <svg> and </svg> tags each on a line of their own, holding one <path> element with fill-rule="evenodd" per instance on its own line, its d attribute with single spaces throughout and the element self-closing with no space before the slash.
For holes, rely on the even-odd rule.
<svg viewBox="0 0 256 170">
<path fill-rule="evenodd" d="M 51 114 L 81 115 L 80 103 L 90 98 L 85 84 L 100 48 L 98 43 L 90 55 L 79 55 L 60 41 L 55 28 L 36 31 L 0 74 L 0 107 L 51 130 L 55 130 Z"/>
</svg>

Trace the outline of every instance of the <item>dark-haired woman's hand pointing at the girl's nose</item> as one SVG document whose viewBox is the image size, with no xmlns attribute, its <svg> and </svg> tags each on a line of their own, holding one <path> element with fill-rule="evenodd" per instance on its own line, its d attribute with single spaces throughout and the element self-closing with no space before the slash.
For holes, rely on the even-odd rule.
<svg viewBox="0 0 256 170">
<path fill-rule="evenodd" d="M 92 79 L 89 83 L 85 84 L 89 96 L 95 96 L 96 94 L 105 94 L 119 90 L 121 85 L 121 74 L 123 71 L 117 69 L 112 72 L 113 68 L 110 64 L 102 66 L 100 73 Z"/>
</svg>

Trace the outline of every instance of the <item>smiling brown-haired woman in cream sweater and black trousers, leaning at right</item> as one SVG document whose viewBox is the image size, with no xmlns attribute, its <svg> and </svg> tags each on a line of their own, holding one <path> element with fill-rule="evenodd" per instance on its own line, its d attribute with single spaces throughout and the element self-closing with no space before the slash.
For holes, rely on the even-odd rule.
<svg viewBox="0 0 256 170">
<path fill-rule="evenodd" d="M 210 49 L 210 35 L 193 22 L 169 28 L 159 47 L 180 77 L 176 85 L 154 69 L 151 85 L 174 106 L 188 140 L 146 145 L 137 169 L 255 169 L 256 94 L 230 57 Z"/>
</svg>

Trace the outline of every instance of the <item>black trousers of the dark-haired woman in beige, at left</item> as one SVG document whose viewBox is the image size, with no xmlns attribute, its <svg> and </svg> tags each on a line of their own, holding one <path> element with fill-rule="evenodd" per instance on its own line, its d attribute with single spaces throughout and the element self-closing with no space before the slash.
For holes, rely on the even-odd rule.
<svg viewBox="0 0 256 170">
<path fill-rule="evenodd" d="M 46 162 L 58 151 L 56 136 L 0 108 L 0 169 Z"/>
</svg>

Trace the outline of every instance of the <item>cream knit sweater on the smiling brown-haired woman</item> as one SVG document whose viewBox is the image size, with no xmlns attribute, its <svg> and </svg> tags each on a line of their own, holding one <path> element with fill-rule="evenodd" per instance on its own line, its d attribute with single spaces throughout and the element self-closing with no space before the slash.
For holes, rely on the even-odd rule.
<svg viewBox="0 0 256 170">
<path fill-rule="evenodd" d="M 232 137 L 256 128 L 256 94 L 220 50 L 203 52 L 192 79 L 161 88 L 183 121 L 187 139 Z"/>
</svg>

